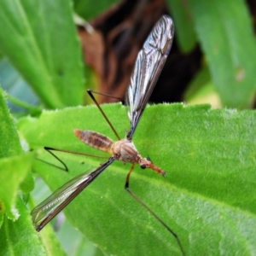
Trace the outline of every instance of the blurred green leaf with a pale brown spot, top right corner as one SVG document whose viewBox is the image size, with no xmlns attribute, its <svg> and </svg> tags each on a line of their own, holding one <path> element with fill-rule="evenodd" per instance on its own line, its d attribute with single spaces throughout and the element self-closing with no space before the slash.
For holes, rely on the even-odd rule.
<svg viewBox="0 0 256 256">
<path fill-rule="evenodd" d="M 244 1 L 190 0 L 212 80 L 224 105 L 246 108 L 255 92 L 256 42 Z"/>
</svg>

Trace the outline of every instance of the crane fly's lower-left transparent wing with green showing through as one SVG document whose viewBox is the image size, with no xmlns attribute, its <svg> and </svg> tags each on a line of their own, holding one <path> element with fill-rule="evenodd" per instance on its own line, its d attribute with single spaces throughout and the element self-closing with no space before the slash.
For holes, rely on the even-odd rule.
<svg viewBox="0 0 256 256">
<path fill-rule="evenodd" d="M 44 228 L 49 221 L 54 218 L 61 210 L 66 207 L 73 199 L 79 195 L 99 174 L 101 174 L 113 161 L 111 157 L 107 162 L 98 167 L 94 172 L 82 173 L 64 184 L 60 189 L 55 190 L 32 212 L 32 221 L 37 231 Z"/>
</svg>

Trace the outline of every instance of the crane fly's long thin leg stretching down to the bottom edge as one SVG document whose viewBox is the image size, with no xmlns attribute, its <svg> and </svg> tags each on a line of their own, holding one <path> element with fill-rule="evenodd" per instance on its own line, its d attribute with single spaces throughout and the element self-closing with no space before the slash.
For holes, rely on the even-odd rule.
<svg viewBox="0 0 256 256">
<path fill-rule="evenodd" d="M 185 254 L 185 252 L 184 252 L 184 250 L 183 250 L 183 246 L 182 246 L 182 243 L 181 243 L 181 241 L 179 240 L 179 238 L 178 238 L 178 236 L 177 236 L 177 234 L 158 216 L 158 215 L 156 215 L 156 213 L 154 213 L 136 194 L 134 194 L 132 191 L 131 191 L 131 189 L 130 189 L 130 187 L 129 187 L 129 183 L 130 183 L 130 176 L 131 176 L 131 172 L 134 170 L 134 164 L 131 166 L 131 170 L 130 170 L 130 172 L 128 172 L 128 174 L 127 174 L 127 176 L 126 176 L 126 181 L 125 181 L 125 189 L 130 193 L 130 195 L 132 195 L 144 208 L 146 208 L 146 210 L 150 213 L 150 214 L 152 214 L 153 216 L 154 216 L 154 218 L 156 218 L 159 222 L 160 222 L 160 224 L 162 224 L 165 228 L 166 228 L 166 230 L 168 230 L 171 234 L 172 234 L 172 236 L 174 236 L 174 238 L 176 239 L 176 241 L 177 241 L 177 244 L 178 244 L 178 246 L 180 247 L 180 249 L 181 249 L 181 252 L 182 252 L 182 254 L 183 254 L 183 256 L 185 256 L 186 254 Z"/>
</svg>

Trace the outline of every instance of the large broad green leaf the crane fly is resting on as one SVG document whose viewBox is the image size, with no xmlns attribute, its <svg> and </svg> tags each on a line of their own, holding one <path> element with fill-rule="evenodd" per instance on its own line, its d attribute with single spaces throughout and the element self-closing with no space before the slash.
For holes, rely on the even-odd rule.
<svg viewBox="0 0 256 256">
<path fill-rule="evenodd" d="M 124 137 L 129 129 L 126 109 L 119 104 L 103 109 Z M 253 111 L 212 110 L 207 105 L 146 109 L 133 141 L 167 176 L 137 166 L 131 174 L 131 189 L 177 233 L 186 254 L 256 253 L 255 119 Z M 76 128 L 113 137 L 95 107 L 44 112 L 39 119 L 19 123 L 32 148 L 101 154 L 74 137 Z M 52 190 L 104 161 L 58 156 L 69 172 L 42 161 L 34 166 Z M 61 166 L 48 153 L 42 152 L 39 159 Z M 181 255 L 173 236 L 125 192 L 130 168 L 118 161 L 109 166 L 66 207 L 69 222 L 108 255 Z"/>
</svg>

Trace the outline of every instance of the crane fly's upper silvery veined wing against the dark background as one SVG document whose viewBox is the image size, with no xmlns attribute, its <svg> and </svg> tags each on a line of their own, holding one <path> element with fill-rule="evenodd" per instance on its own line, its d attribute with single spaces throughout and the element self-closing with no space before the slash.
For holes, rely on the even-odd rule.
<svg viewBox="0 0 256 256">
<path fill-rule="evenodd" d="M 130 106 L 128 113 L 131 130 L 127 138 L 131 139 L 143 110 L 154 90 L 154 85 L 165 65 L 167 55 L 172 48 L 174 25 L 169 16 L 162 16 L 150 32 L 137 55 L 137 61 L 131 74 L 131 83 L 126 92 L 125 102 Z"/>
</svg>

